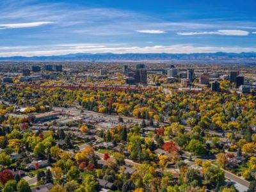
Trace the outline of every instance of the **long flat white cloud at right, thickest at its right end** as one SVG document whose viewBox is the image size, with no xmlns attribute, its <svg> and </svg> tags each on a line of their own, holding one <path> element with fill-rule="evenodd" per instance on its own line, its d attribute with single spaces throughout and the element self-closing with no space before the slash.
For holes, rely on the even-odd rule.
<svg viewBox="0 0 256 192">
<path fill-rule="evenodd" d="M 218 31 L 202 31 L 202 32 L 178 32 L 177 35 L 232 35 L 247 36 L 250 32 L 242 30 L 218 30 Z"/>
</svg>

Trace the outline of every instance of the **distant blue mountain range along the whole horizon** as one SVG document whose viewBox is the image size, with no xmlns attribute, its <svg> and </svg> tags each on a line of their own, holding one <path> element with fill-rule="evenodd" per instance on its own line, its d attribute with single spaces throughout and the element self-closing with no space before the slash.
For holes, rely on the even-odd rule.
<svg viewBox="0 0 256 192">
<path fill-rule="evenodd" d="M 215 52 L 215 53 L 191 53 L 191 54 L 168 54 L 168 53 L 126 53 L 126 54 L 89 54 L 76 53 L 60 56 L 12 56 L 0 57 L 0 61 L 255 61 L 256 52 Z M 254 62 L 253 62 L 254 63 Z"/>
</svg>

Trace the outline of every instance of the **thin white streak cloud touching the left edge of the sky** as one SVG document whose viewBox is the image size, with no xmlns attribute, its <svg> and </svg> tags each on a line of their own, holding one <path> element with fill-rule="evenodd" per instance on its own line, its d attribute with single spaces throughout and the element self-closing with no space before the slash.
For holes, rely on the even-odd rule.
<svg viewBox="0 0 256 192">
<path fill-rule="evenodd" d="M 52 24 L 53 22 L 22 22 L 12 24 L 0 24 L 0 29 L 15 29 L 15 28 L 34 28 L 45 24 Z"/>
</svg>

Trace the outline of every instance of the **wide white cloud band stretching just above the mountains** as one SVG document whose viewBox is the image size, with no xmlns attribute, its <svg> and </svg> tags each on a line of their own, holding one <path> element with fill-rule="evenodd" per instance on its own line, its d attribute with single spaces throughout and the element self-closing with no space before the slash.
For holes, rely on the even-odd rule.
<svg viewBox="0 0 256 192">
<path fill-rule="evenodd" d="M 256 47 L 214 47 L 196 46 L 193 44 L 177 45 L 152 45 L 145 47 L 124 46 L 116 44 L 63 44 L 63 45 L 37 45 L 0 47 L 0 56 L 52 56 L 70 54 L 77 52 L 84 53 L 196 53 L 196 52 L 250 52 Z"/>
</svg>

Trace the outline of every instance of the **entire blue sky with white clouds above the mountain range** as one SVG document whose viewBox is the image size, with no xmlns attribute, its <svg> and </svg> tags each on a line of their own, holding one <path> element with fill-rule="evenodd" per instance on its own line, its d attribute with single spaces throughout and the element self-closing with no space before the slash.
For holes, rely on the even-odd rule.
<svg viewBox="0 0 256 192">
<path fill-rule="evenodd" d="M 0 56 L 256 51 L 255 0 L 0 0 Z"/>
</svg>

